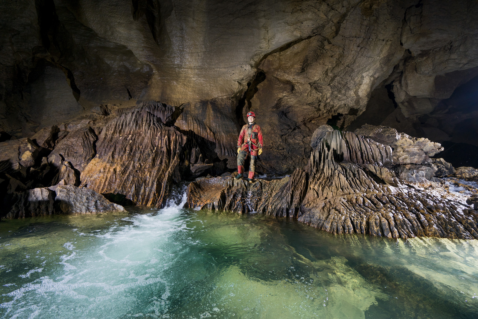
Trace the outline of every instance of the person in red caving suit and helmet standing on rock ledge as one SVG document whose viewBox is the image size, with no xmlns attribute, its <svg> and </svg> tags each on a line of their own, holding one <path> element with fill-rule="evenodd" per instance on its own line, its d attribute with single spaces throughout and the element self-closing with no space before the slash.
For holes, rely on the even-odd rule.
<svg viewBox="0 0 478 319">
<path fill-rule="evenodd" d="M 238 175 L 235 177 L 239 179 L 244 173 L 244 161 L 250 155 L 249 165 L 249 183 L 254 180 L 254 173 L 256 171 L 257 155 L 262 153 L 262 131 L 261 127 L 256 124 L 256 115 L 254 112 L 247 113 L 248 124 L 244 125 L 240 131 L 238 139 Z"/>
</svg>

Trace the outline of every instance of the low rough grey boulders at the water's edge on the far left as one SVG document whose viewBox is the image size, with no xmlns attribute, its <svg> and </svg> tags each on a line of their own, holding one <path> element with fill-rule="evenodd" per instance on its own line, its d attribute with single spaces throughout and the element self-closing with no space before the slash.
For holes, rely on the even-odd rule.
<svg viewBox="0 0 478 319">
<path fill-rule="evenodd" d="M 59 185 L 33 188 L 15 193 L 14 204 L 7 218 L 25 218 L 52 214 L 95 214 L 107 211 L 124 211 L 103 195 L 86 187 Z"/>
</svg>

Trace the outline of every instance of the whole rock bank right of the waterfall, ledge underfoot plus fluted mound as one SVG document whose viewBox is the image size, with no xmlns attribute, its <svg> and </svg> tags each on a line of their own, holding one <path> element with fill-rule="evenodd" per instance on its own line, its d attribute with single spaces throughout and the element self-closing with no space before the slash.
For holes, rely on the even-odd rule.
<svg viewBox="0 0 478 319">
<path fill-rule="evenodd" d="M 466 196 L 448 193 L 436 177 L 424 185 L 397 174 L 406 162 L 431 163 L 428 155 L 439 151 L 437 145 L 397 135 L 394 143 L 407 144 L 408 157 L 407 147 L 392 150 L 352 132 L 320 127 L 305 169 L 251 186 L 231 177 L 201 179 L 189 186 L 187 204 L 294 217 L 337 234 L 478 239 L 478 214 Z"/>
</svg>

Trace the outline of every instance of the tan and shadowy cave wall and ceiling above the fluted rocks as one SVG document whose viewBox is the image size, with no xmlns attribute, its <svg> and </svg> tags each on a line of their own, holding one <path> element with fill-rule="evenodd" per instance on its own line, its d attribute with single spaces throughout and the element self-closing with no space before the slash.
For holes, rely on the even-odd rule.
<svg viewBox="0 0 478 319">
<path fill-rule="evenodd" d="M 31 137 L 98 105 L 157 101 L 177 110 L 181 132 L 230 159 L 229 168 L 248 110 L 265 136 L 262 171 L 304 166 L 312 133 L 327 122 L 478 146 L 470 85 L 478 82 L 477 1 L 18 0 L 0 7 L 5 136 Z"/>
</svg>

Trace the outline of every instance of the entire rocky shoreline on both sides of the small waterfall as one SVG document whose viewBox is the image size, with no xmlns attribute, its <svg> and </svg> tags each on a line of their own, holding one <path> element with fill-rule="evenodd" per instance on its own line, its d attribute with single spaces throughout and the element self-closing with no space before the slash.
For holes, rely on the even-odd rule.
<svg viewBox="0 0 478 319">
<path fill-rule="evenodd" d="M 305 167 L 249 185 L 211 157 L 207 140 L 175 125 L 186 116 L 178 108 L 143 102 L 98 113 L 0 143 L 3 218 L 162 208 L 174 183 L 196 178 L 189 208 L 297 218 L 337 234 L 478 239 L 478 171 L 432 158 L 443 148 L 424 138 L 322 125 Z"/>
</svg>

